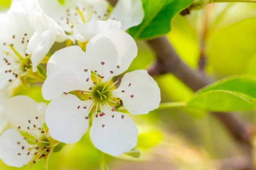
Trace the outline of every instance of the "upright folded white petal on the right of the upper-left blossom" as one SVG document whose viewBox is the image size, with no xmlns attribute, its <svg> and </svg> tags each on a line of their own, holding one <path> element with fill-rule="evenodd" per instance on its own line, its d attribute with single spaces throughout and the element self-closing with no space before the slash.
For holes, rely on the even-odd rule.
<svg viewBox="0 0 256 170">
<path fill-rule="evenodd" d="M 31 55 L 31 62 L 33 64 L 33 72 L 37 71 L 38 64 L 43 60 L 45 55 L 49 52 L 56 39 L 55 29 L 43 31 L 43 26 L 39 25 L 38 29 L 32 35 L 27 45 L 26 53 Z"/>
</svg>

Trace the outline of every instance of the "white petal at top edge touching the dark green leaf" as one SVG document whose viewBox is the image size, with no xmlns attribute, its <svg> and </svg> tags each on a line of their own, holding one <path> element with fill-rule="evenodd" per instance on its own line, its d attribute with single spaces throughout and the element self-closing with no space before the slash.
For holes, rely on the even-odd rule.
<svg viewBox="0 0 256 170">
<path fill-rule="evenodd" d="M 121 29 L 126 31 L 132 26 L 139 25 L 144 18 L 141 0 L 118 0 L 110 13 L 109 19 L 122 23 Z"/>
</svg>

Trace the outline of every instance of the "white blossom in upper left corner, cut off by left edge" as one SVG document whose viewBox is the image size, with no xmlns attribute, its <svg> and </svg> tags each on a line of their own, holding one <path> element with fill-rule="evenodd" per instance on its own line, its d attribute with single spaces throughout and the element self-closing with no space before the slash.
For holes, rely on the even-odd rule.
<svg viewBox="0 0 256 170">
<path fill-rule="evenodd" d="M 0 15 L 0 25 L 1 89 L 29 71 L 36 72 L 55 42 L 57 30 L 62 29 L 42 12 L 27 11 L 19 1 L 13 1 L 7 13 Z"/>
</svg>

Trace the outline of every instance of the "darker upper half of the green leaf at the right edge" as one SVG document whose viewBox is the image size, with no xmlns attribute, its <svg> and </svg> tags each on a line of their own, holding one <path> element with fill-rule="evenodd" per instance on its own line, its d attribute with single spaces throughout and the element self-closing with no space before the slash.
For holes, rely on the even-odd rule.
<svg viewBox="0 0 256 170">
<path fill-rule="evenodd" d="M 227 77 L 200 89 L 197 94 L 212 90 L 236 91 L 256 98 L 256 76 L 236 75 Z"/>
</svg>

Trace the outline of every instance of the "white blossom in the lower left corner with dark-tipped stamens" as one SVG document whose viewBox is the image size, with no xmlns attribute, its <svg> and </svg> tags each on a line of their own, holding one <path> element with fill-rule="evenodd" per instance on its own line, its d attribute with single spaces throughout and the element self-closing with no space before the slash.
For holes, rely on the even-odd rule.
<svg viewBox="0 0 256 170">
<path fill-rule="evenodd" d="M 4 108 L 15 128 L 0 136 L 0 159 L 8 166 L 22 167 L 47 158 L 53 146 L 44 127 L 46 104 L 21 95 L 8 99 Z"/>
</svg>

